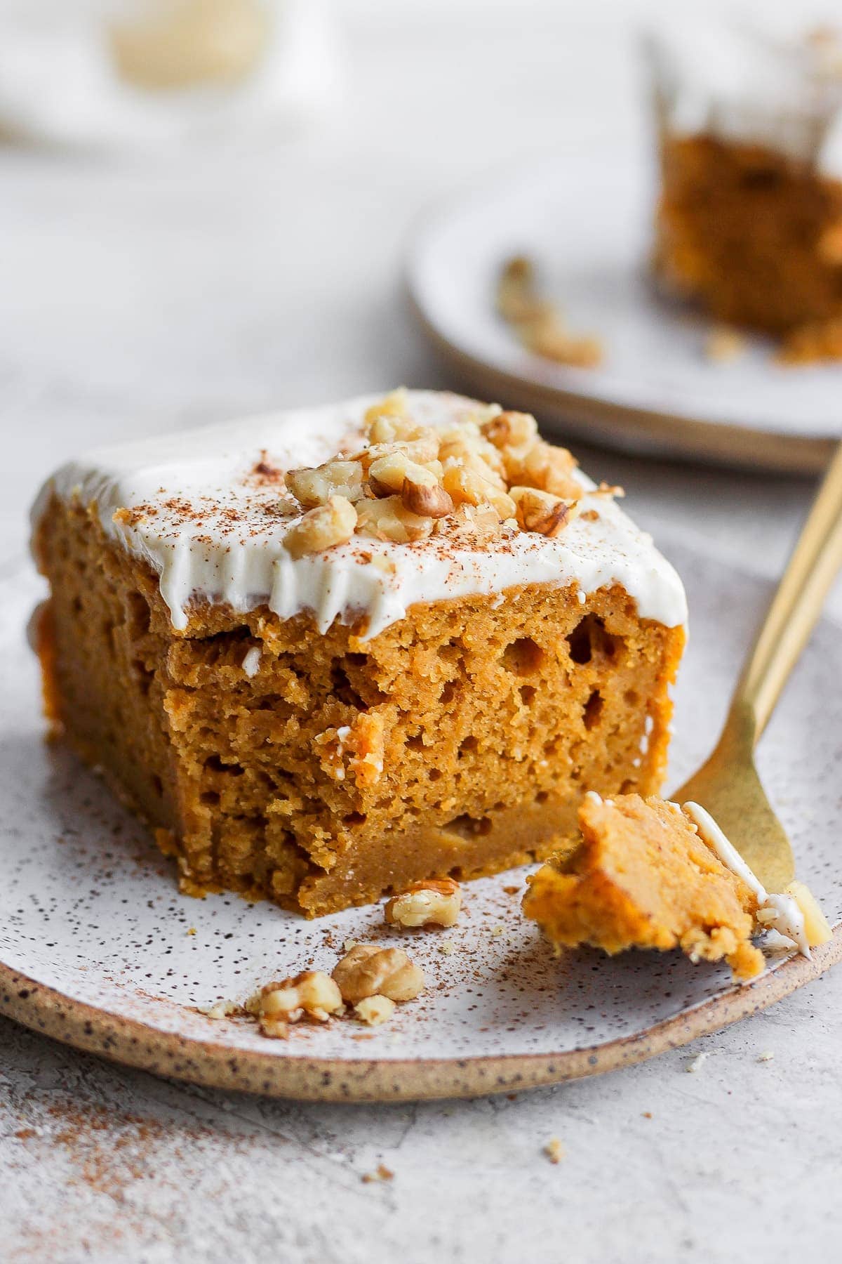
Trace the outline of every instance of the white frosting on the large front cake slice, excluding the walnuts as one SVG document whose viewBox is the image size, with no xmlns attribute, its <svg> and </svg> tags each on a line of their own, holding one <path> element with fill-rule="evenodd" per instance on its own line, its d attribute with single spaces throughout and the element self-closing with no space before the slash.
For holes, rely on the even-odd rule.
<svg viewBox="0 0 842 1264">
<path fill-rule="evenodd" d="M 534 583 L 576 583 L 584 593 L 620 584 L 641 618 L 668 627 L 687 621 L 684 589 L 673 568 L 610 498 L 593 494 L 584 475 L 590 490 L 583 508 L 597 509 L 598 520 L 578 517 L 554 540 L 513 530 L 477 549 L 441 537 L 391 544 L 357 535 L 294 559 L 284 537 L 298 518 L 278 514 L 278 484 L 261 478 L 256 466 L 264 460 L 287 470 L 328 460 L 343 442 L 359 439 L 365 410 L 380 398 L 100 449 L 44 484 L 33 521 L 53 494 L 95 504 L 109 535 L 159 574 L 178 629 L 187 626 L 191 599 L 199 597 L 241 612 L 268 604 L 284 619 L 309 611 L 322 632 L 336 618 L 350 623 L 365 614 L 366 635 L 376 636 L 417 602 Z M 476 404 L 414 391 L 409 408 L 418 421 L 443 426 Z M 115 521 L 117 509 L 131 514 Z"/>
</svg>

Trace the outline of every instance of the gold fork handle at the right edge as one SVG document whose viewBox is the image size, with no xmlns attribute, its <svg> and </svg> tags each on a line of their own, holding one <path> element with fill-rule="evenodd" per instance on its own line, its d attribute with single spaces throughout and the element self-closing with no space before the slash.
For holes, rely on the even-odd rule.
<svg viewBox="0 0 842 1264">
<path fill-rule="evenodd" d="M 842 442 L 833 454 L 733 693 L 726 729 L 741 731 L 752 746 L 809 640 L 839 566 Z"/>
</svg>

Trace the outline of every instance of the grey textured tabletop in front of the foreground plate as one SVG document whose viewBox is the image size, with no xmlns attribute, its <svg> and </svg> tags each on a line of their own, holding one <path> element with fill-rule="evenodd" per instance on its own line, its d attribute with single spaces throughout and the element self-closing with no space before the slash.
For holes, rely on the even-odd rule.
<svg viewBox="0 0 842 1264">
<path fill-rule="evenodd" d="M 619 1074 L 376 1110 L 181 1088 L 3 1023 L 8 1258 L 831 1261 L 841 1006 L 837 971 Z"/>
</svg>

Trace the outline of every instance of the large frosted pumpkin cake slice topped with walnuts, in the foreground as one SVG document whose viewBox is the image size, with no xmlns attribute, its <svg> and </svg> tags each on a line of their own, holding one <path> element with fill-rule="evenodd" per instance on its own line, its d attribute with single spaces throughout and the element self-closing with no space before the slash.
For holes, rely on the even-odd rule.
<svg viewBox="0 0 842 1264">
<path fill-rule="evenodd" d="M 184 890 L 308 915 L 654 793 L 673 569 L 534 420 L 395 392 L 104 449 L 34 508 L 53 731 Z"/>
</svg>

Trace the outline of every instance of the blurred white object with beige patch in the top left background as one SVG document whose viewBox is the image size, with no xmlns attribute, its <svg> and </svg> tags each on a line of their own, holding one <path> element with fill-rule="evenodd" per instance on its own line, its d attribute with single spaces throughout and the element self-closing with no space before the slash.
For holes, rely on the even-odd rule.
<svg viewBox="0 0 842 1264">
<path fill-rule="evenodd" d="M 0 0 L 0 135 L 160 148 L 298 124 L 338 82 L 329 0 Z"/>
</svg>

